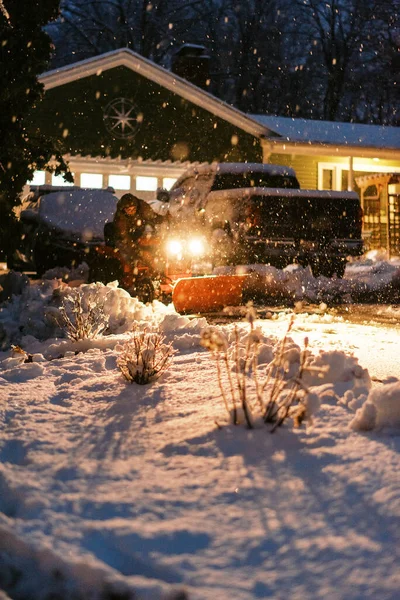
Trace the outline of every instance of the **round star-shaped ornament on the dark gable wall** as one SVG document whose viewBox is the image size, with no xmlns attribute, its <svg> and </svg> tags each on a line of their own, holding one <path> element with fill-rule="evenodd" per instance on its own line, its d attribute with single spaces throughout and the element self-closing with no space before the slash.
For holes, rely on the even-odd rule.
<svg viewBox="0 0 400 600">
<path fill-rule="evenodd" d="M 135 135 L 143 115 L 137 107 L 126 98 L 116 98 L 104 109 L 104 124 L 114 137 L 128 139 Z"/>
</svg>

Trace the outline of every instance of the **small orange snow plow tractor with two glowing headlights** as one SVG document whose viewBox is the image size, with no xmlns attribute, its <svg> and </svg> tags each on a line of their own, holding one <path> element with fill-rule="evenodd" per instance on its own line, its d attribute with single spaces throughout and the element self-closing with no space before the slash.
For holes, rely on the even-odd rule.
<svg viewBox="0 0 400 600">
<path fill-rule="evenodd" d="M 107 232 L 107 225 L 105 227 Z M 213 275 L 207 239 L 200 235 L 149 237 L 141 242 L 141 258 L 126 264 L 112 238 L 96 248 L 90 261 L 92 281 L 118 280 L 121 287 L 144 303 L 172 302 L 180 313 L 220 311 L 237 306 L 255 287 L 254 275 Z"/>
</svg>

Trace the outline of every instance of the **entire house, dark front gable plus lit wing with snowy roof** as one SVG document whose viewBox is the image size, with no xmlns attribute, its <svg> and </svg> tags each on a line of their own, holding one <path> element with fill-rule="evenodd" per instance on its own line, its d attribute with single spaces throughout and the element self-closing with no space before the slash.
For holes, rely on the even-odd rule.
<svg viewBox="0 0 400 600">
<path fill-rule="evenodd" d="M 76 185 L 148 199 L 189 165 L 212 161 L 288 165 L 303 188 L 359 193 L 360 177 L 400 173 L 400 128 L 245 114 L 210 94 L 207 80 L 188 81 L 193 48 L 179 57 L 185 79 L 126 48 L 40 77 L 34 119 L 61 133 Z M 34 183 L 52 182 L 35 174 Z"/>
</svg>

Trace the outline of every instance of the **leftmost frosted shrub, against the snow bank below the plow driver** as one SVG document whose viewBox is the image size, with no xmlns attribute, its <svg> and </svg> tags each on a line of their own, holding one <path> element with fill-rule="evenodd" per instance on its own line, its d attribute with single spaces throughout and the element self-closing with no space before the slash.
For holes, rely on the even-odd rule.
<svg viewBox="0 0 400 600">
<path fill-rule="evenodd" d="M 93 339 L 107 329 L 109 316 L 104 310 L 104 298 L 96 290 L 87 294 L 81 288 L 72 288 L 58 310 L 58 325 L 75 342 Z"/>
</svg>

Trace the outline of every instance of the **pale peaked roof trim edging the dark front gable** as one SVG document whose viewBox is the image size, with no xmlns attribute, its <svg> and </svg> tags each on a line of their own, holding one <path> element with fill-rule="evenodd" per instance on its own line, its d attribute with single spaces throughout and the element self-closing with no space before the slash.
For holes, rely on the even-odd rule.
<svg viewBox="0 0 400 600">
<path fill-rule="evenodd" d="M 189 100 L 193 104 L 200 106 L 255 137 L 271 134 L 268 127 L 257 121 L 257 119 L 226 104 L 226 102 L 219 100 L 212 94 L 186 81 L 186 79 L 156 65 L 154 62 L 128 48 L 112 50 L 111 52 L 81 60 L 60 67 L 59 69 L 47 71 L 39 77 L 39 80 L 43 83 L 45 89 L 49 90 L 92 75 L 99 76 L 103 71 L 120 66 L 127 67 L 139 75 L 158 83 L 171 92 L 178 94 L 182 98 Z"/>
</svg>

